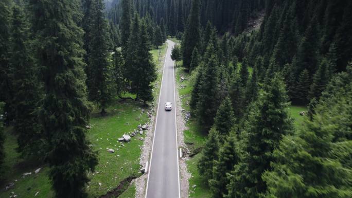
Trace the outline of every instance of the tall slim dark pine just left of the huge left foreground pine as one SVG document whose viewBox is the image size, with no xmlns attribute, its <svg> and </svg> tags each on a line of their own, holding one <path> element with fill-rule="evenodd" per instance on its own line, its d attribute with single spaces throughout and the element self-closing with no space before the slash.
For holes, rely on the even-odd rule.
<svg viewBox="0 0 352 198">
<path fill-rule="evenodd" d="M 12 85 L 16 90 L 12 105 L 16 116 L 14 130 L 18 134 L 17 151 L 23 156 L 42 157 L 42 134 L 38 116 L 34 113 L 42 93 L 37 78 L 38 69 L 29 47 L 29 24 L 20 7 L 14 6 L 12 13 L 10 68 L 13 75 Z"/>
</svg>

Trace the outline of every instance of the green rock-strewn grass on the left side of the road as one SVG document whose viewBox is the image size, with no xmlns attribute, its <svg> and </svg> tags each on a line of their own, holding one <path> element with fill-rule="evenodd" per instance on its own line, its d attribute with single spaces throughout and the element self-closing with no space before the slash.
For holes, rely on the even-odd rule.
<svg viewBox="0 0 352 198">
<path fill-rule="evenodd" d="M 161 71 L 161 65 L 165 57 L 167 43 L 159 49 L 151 51 L 154 63 L 158 71 Z M 158 79 L 154 82 L 154 96 L 159 94 L 160 81 L 162 74 L 158 75 Z M 98 197 L 113 190 L 126 177 L 139 175 L 139 156 L 140 147 L 143 141 L 137 135 L 132 137 L 132 141 L 121 144 L 117 142 L 117 138 L 124 133 L 132 132 L 138 124 L 146 123 L 149 119 L 145 113 L 142 113 L 143 104 L 136 101 L 116 99 L 107 109 L 107 116 L 101 117 L 94 112 L 90 120 L 90 124 L 94 125 L 92 129 L 87 131 L 87 137 L 91 140 L 94 150 L 99 152 L 99 164 L 95 173 L 90 173 L 91 182 L 87 186 L 89 197 Z M 0 198 L 8 198 L 13 191 L 17 197 L 52 197 L 51 184 L 47 176 L 48 167 L 41 167 L 38 163 L 24 161 L 19 154 L 15 152 L 17 147 L 16 137 L 11 133 L 11 128 L 6 129 L 5 152 L 6 158 L 4 163 L 5 178 L 0 183 Z M 115 153 L 107 152 L 107 149 L 114 149 Z M 41 167 L 38 174 L 34 174 L 34 170 Z M 22 177 L 25 172 L 32 172 L 31 175 Z M 14 183 L 14 188 L 4 191 L 8 183 Z M 37 193 L 38 192 L 38 193 Z M 135 185 L 131 185 L 119 197 L 134 197 Z"/>
</svg>

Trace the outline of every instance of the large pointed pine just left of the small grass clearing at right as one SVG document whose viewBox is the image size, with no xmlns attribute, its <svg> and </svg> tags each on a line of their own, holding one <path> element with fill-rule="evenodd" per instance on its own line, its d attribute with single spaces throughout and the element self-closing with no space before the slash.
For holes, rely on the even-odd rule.
<svg viewBox="0 0 352 198">
<path fill-rule="evenodd" d="M 284 82 L 275 75 L 258 99 L 249 115 L 248 127 L 241 134 L 245 138 L 241 151 L 244 154 L 230 176 L 227 197 L 259 197 L 260 193 L 265 193 L 267 187 L 261 174 L 270 170 L 274 149 L 283 135 L 292 130 L 287 99 Z"/>
</svg>

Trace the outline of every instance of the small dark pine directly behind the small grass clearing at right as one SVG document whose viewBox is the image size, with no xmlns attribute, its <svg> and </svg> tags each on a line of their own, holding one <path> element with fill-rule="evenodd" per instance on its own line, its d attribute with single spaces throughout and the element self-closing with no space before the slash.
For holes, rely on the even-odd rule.
<svg viewBox="0 0 352 198">
<path fill-rule="evenodd" d="M 308 93 L 309 93 L 309 73 L 307 69 L 304 69 L 300 76 L 298 77 L 298 82 L 296 85 L 296 98 L 297 102 L 300 104 L 307 104 L 308 103 Z"/>
</svg>

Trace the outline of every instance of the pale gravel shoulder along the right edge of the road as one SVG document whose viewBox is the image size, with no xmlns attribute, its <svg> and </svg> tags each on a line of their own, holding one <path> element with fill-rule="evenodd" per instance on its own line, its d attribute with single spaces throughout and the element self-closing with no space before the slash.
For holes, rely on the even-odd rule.
<svg viewBox="0 0 352 198">
<path fill-rule="evenodd" d="M 187 165 L 186 165 L 186 160 L 187 160 L 187 153 L 185 150 L 188 150 L 187 144 L 184 142 L 184 136 L 183 133 L 185 130 L 188 130 L 188 128 L 185 125 L 185 117 L 183 116 L 182 113 L 182 106 L 181 106 L 181 99 L 179 96 L 179 90 L 178 90 L 178 84 L 177 81 L 175 81 L 175 92 L 176 92 L 176 120 L 177 120 L 177 139 L 178 139 L 178 147 L 182 148 L 182 158 L 179 160 L 179 169 L 180 169 L 180 179 L 181 179 L 181 197 L 188 197 L 188 191 L 189 191 L 189 183 L 188 179 L 190 178 L 190 174 L 187 171 Z"/>
</svg>

